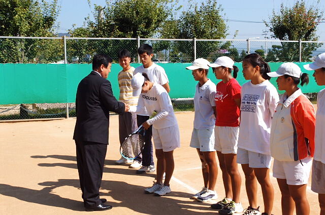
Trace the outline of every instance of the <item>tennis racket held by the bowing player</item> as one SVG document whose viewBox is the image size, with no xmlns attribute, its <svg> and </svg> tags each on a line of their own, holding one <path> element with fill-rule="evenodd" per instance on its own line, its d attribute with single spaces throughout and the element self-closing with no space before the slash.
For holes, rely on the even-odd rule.
<svg viewBox="0 0 325 215">
<path fill-rule="evenodd" d="M 153 118 L 157 114 L 156 111 L 153 111 L 149 119 Z M 140 125 L 138 129 L 125 138 L 120 147 L 121 155 L 126 159 L 136 159 L 143 151 L 145 140 L 144 137 L 139 134 L 143 130 L 143 126 Z M 145 133 L 144 133 L 145 135 Z"/>
</svg>

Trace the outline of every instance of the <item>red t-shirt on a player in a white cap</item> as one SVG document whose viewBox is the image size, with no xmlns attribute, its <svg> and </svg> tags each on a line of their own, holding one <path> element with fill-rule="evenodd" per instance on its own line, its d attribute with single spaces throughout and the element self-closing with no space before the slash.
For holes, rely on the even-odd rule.
<svg viewBox="0 0 325 215">
<path fill-rule="evenodd" d="M 217 126 L 239 126 L 239 108 L 234 99 L 240 99 L 241 87 L 235 78 L 223 83 L 220 81 L 217 84 L 217 92 L 214 100 L 217 109 L 217 119 L 215 125 Z"/>
</svg>

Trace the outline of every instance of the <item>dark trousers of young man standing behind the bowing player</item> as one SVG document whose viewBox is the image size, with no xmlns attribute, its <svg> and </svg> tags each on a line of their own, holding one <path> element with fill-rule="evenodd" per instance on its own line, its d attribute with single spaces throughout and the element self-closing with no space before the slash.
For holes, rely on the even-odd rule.
<svg viewBox="0 0 325 215">
<path fill-rule="evenodd" d="M 140 126 L 143 122 L 147 121 L 149 116 L 141 116 L 137 115 L 138 126 Z M 140 132 L 143 135 L 143 132 Z M 143 166 L 150 166 L 153 165 L 153 151 L 152 151 L 152 125 L 145 131 L 144 140 L 145 145 L 142 151 L 142 165 Z"/>
</svg>

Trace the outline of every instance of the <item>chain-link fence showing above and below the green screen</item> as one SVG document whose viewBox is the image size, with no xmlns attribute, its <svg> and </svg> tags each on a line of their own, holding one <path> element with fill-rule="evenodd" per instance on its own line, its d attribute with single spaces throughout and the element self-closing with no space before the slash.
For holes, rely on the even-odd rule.
<svg viewBox="0 0 325 215">
<path fill-rule="evenodd" d="M 249 53 L 258 53 L 267 62 L 306 62 L 325 52 L 325 41 L 280 41 L 248 39 L 158 39 L 158 38 L 75 38 L 75 37 L 0 37 L 0 63 L 86 63 L 97 53 L 106 53 L 118 63 L 117 53 L 127 49 L 132 61 L 141 44 L 154 49 L 156 63 L 190 63 L 196 58 L 213 62 L 229 56 L 241 62 Z M 193 110 L 192 98 L 174 98 L 175 111 Z M 74 103 L 0 105 L 0 120 L 58 118 L 75 116 Z"/>
</svg>

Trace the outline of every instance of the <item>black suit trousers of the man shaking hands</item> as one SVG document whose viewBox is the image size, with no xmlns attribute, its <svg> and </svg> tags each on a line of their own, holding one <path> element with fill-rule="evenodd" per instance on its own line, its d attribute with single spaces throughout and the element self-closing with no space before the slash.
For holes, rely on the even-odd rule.
<svg viewBox="0 0 325 215">
<path fill-rule="evenodd" d="M 84 205 L 98 206 L 107 145 L 88 141 L 77 141 L 77 166 Z"/>
</svg>

